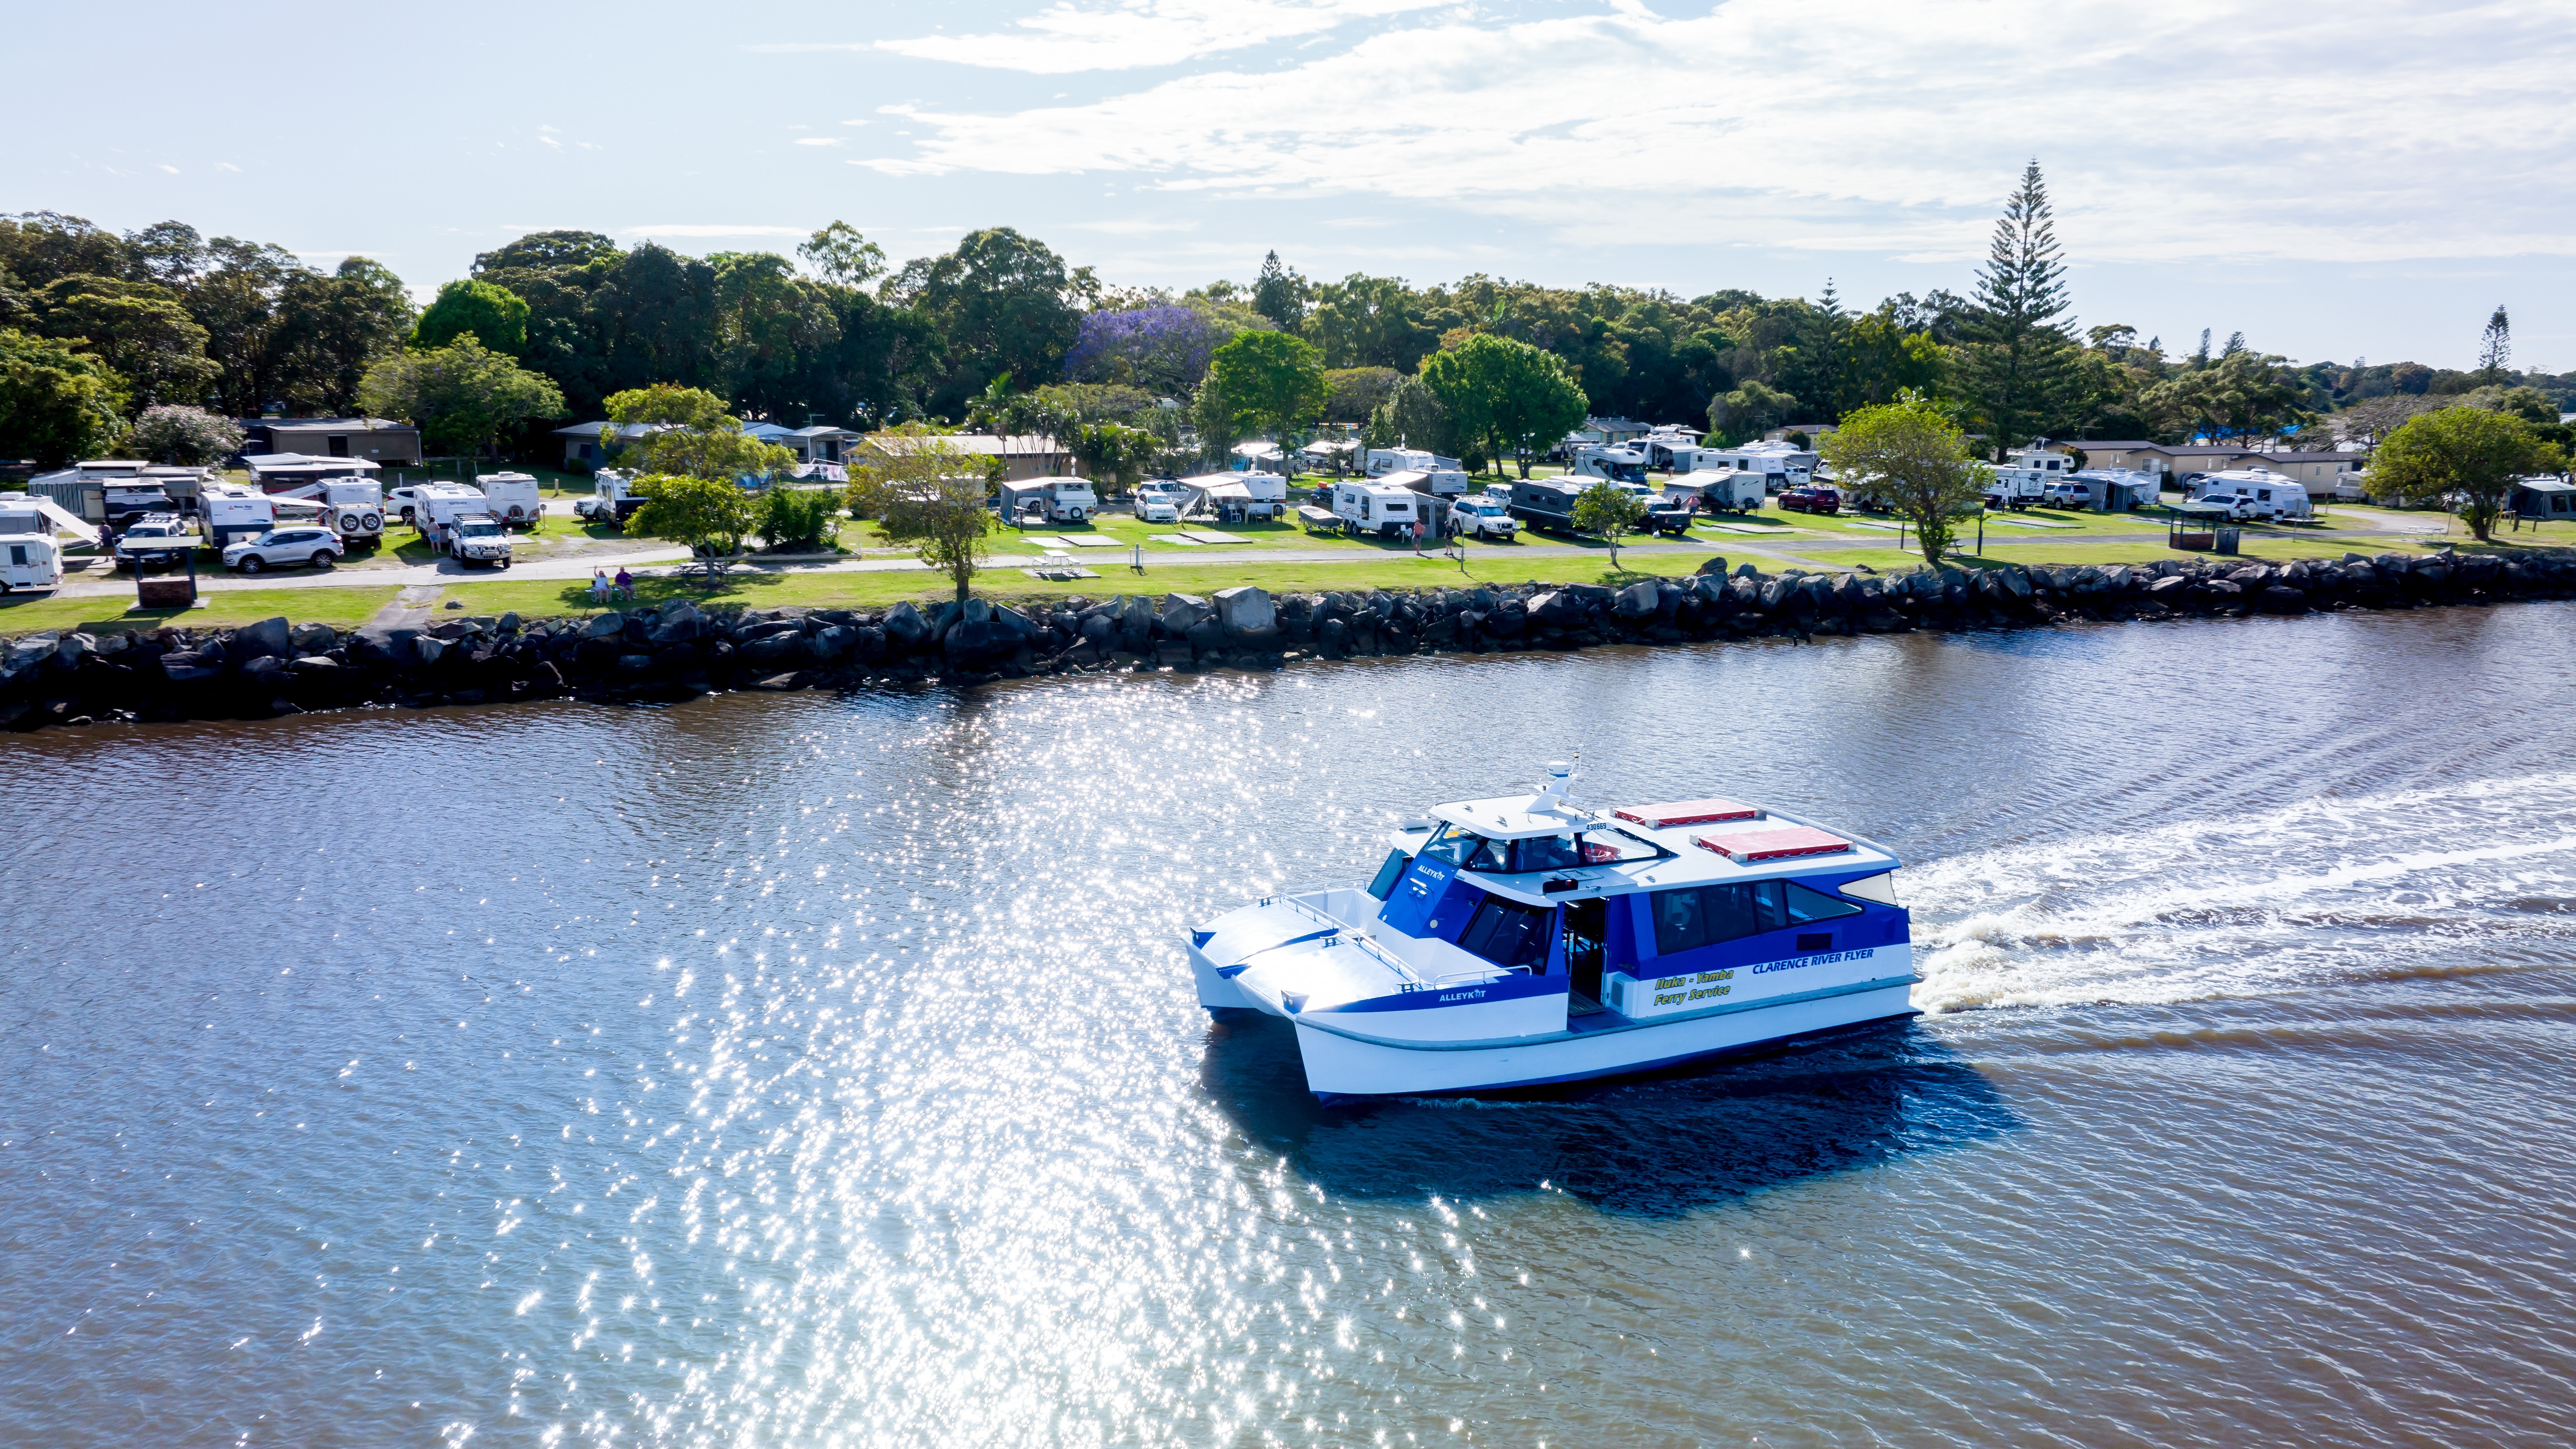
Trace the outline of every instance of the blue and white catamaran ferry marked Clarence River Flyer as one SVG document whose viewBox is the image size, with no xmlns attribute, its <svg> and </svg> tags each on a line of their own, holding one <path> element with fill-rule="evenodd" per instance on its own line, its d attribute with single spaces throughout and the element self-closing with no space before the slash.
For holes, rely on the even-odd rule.
<svg viewBox="0 0 2576 1449">
<path fill-rule="evenodd" d="M 1914 1013 L 1891 851 L 1731 799 L 1592 810 L 1569 779 L 1435 807 L 1368 890 L 1193 931 L 1200 1006 L 1296 1024 L 1319 1096 L 1602 1078 Z"/>
</svg>

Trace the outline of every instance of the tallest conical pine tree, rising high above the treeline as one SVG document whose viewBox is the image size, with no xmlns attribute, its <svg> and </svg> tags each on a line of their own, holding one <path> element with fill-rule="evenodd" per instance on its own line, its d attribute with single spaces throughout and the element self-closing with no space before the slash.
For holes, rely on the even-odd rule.
<svg viewBox="0 0 2576 1449">
<path fill-rule="evenodd" d="M 2074 387 L 2074 338 L 2066 333 L 2066 260 L 2040 162 L 2004 201 L 1986 266 L 1976 273 L 1976 307 L 1963 327 L 1960 384 L 1986 420 L 1996 449 L 2017 449 L 2058 425 Z"/>
</svg>

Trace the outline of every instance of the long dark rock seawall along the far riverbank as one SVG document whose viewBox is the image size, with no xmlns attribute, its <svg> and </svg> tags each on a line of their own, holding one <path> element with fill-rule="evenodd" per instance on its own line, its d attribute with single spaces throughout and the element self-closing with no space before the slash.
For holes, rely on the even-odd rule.
<svg viewBox="0 0 2576 1449">
<path fill-rule="evenodd" d="M 1710 559 L 1692 578 L 1605 585 L 1479 585 L 1270 596 L 1226 588 L 1066 598 L 1010 608 L 971 598 L 922 611 L 698 608 L 665 601 L 592 619 L 446 619 L 355 629 L 265 619 L 240 629 L 31 634 L 0 647 L 0 730 L 98 719 L 265 719 L 366 704 L 492 704 L 577 696 L 662 704 L 729 688 L 868 678 L 992 681 L 1131 668 L 1280 668 L 1298 657 L 1582 650 L 1759 634 L 1896 634 L 2421 608 L 2576 598 L 2576 554 L 2344 554 L 2262 565 L 1924 570 L 1893 578 L 1757 572 Z"/>
</svg>

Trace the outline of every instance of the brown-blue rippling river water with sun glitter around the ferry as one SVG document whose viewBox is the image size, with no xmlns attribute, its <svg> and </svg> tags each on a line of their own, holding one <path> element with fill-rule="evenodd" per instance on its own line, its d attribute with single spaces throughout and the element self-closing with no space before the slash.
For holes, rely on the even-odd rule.
<svg viewBox="0 0 2576 1449">
<path fill-rule="evenodd" d="M 0 1441 L 2563 1444 L 2576 606 L 13 737 Z M 1582 753 L 1924 1016 L 1319 1109 L 1182 931 Z"/>
</svg>

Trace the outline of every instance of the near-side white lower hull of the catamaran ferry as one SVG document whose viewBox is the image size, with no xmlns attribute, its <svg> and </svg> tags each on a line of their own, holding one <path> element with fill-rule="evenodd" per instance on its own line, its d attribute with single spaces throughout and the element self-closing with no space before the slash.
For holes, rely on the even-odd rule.
<svg viewBox="0 0 2576 1449">
<path fill-rule="evenodd" d="M 1316 1096 L 1440 1096 L 1649 1073 L 1695 1057 L 1914 1016 L 1914 975 L 1685 1021 L 1582 1031 L 1543 1042 L 1394 1044 L 1296 1021 L 1306 1088 Z"/>
</svg>

